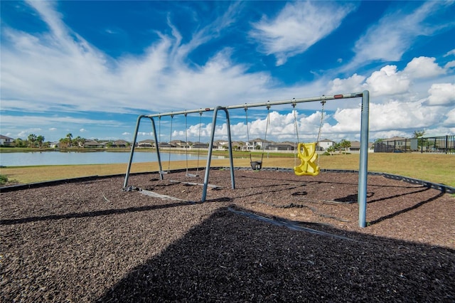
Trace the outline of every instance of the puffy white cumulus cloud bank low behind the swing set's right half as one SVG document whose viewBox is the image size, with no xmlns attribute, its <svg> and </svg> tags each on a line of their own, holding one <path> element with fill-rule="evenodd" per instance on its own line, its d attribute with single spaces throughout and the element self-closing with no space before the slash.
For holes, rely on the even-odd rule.
<svg viewBox="0 0 455 303">
<path fill-rule="evenodd" d="M 423 74 L 417 71 L 418 66 L 428 68 L 427 73 Z M 434 127 L 441 121 L 444 121 L 444 125 L 451 125 L 451 121 L 454 119 L 454 117 L 451 117 L 454 115 L 453 111 L 447 113 L 441 107 L 428 107 L 427 105 L 452 105 L 455 96 L 453 84 L 433 84 L 431 88 L 427 89 L 429 97 L 423 98 L 419 98 L 419 94 L 411 90 L 414 80 L 421 80 L 427 77 L 434 78 L 443 74 L 444 70 L 437 63 L 434 63 L 434 58 L 419 57 L 411 60 L 403 70 L 398 70 L 395 65 L 385 65 L 368 77 L 354 74 L 349 78 L 336 78 L 328 81 L 328 87 L 330 87 L 328 93 L 336 94 L 370 90 L 372 92 L 370 94 L 372 96 L 370 99 L 370 138 L 408 137 L 410 129 Z M 426 83 L 424 84 L 427 85 Z M 317 102 L 314 103 L 316 104 Z M 306 106 L 305 108 L 308 109 Z M 338 107 L 333 114 L 328 112 L 328 115 L 324 117 L 322 137 L 339 140 L 346 139 L 348 136 L 358 139 L 360 134 L 360 114 L 360 105 L 353 108 Z M 315 110 L 310 115 L 296 112 L 301 140 L 314 141 L 316 139 L 320 117 L 321 112 L 319 110 Z M 256 137 L 264 138 L 266 125 L 266 117 L 250 119 L 248 124 L 250 139 Z M 203 124 L 201 127 L 203 136 L 208 136 L 211 124 Z M 190 126 L 187 130 L 188 136 L 196 137 L 198 131 L 199 124 Z M 446 130 L 446 132 L 448 131 Z M 247 139 L 244 122 L 232 124 L 231 132 L 232 136 L 237 139 Z M 174 133 L 174 135 L 180 135 L 181 137 L 184 134 L 184 131 Z M 226 125 L 218 126 L 216 134 L 226 139 Z M 267 136 L 269 139 L 293 142 L 296 137 L 294 112 L 289 111 L 284 114 L 276 111 L 270 112 Z"/>
</svg>

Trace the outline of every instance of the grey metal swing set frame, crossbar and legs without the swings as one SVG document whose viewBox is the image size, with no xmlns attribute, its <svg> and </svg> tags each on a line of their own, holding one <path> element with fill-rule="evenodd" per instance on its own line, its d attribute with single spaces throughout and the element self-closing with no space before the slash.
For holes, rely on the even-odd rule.
<svg viewBox="0 0 455 303">
<path fill-rule="evenodd" d="M 212 129 L 210 132 L 210 143 L 208 146 L 208 157 L 207 157 L 207 165 L 205 168 L 205 176 L 204 176 L 204 183 L 203 183 L 203 193 L 201 197 L 201 202 L 205 201 L 207 195 L 207 187 L 208 187 L 208 177 L 210 172 L 210 161 L 212 158 L 212 150 L 213 150 L 213 140 L 215 136 L 215 127 L 216 121 L 218 117 L 218 111 L 224 111 L 226 115 L 226 125 L 228 125 L 228 148 L 229 148 L 229 159 L 230 159 L 230 175 L 231 175 L 231 184 L 232 189 L 235 189 L 235 179 L 234 179 L 234 164 L 232 160 L 232 139 L 230 134 L 230 120 L 229 120 L 229 110 L 235 109 L 246 109 L 249 107 L 270 107 L 272 105 L 296 105 L 297 103 L 303 102 L 323 102 L 327 100 L 338 100 L 338 99 L 348 99 L 348 98 L 362 98 L 362 107 L 361 107 L 361 115 L 360 115 L 360 166 L 359 166 L 359 183 L 358 183 L 358 204 L 359 204 L 359 216 L 358 222 L 361 228 L 365 228 L 366 226 L 366 198 L 367 198 L 367 174 L 368 174 L 368 119 L 369 119 L 369 103 L 370 103 L 370 92 L 368 90 L 364 90 L 363 92 L 352 92 L 349 94 L 339 94 L 339 95 L 322 95 L 319 97 L 307 97 L 307 98 L 299 98 L 299 99 L 291 99 L 291 100 L 278 100 L 278 101 L 267 101 L 267 102 L 257 102 L 257 103 L 245 103 L 242 105 L 229 105 L 229 106 L 217 106 L 217 107 L 206 107 L 200 108 L 198 110 L 183 110 L 177 112 L 165 112 L 153 115 L 139 115 L 137 117 L 137 124 L 136 129 L 134 130 L 134 139 L 132 142 L 131 153 L 129 156 L 129 162 L 127 166 L 127 173 L 125 174 L 124 179 L 124 186 L 123 188 L 128 188 L 128 179 L 129 173 L 131 171 L 132 166 L 132 159 L 134 155 L 134 147 L 137 142 L 137 134 L 139 132 L 139 124 L 141 119 L 148 118 L 151 121 L 152 132 L 154 134 L 154 139 L 156 142 L 156 154 L 159 162 L 159 172 L 160 178 L 163 178 L 164 170 L 161 167 L 161 157 L 159 153 L 159 144 L 158 144 L 158 137 L 156 136 L 156 127 L 154 118 L 165 117 L 174 115 L 188 115 L 191 113 L 199 113 L 202 115 L 203 112 L 213 112 L 213 122 L 212 122 Z M 262 163 L 261 163 L 262 165 Z"/>
</svg>

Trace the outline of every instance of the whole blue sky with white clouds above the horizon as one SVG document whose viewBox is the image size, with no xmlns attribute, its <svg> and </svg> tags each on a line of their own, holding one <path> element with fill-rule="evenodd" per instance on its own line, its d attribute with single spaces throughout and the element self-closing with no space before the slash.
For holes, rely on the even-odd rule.
<svg viewBox="0 0 455 303">
<path fill-rule="evenodd" d="M 132 140 L 138 115 L 370 91 L 370 141 L 455 134 L 454 1 L 1 1 L 1 134 Z M 360 99 L 329 101 L 321 137 L 360 138 Z M 230 112 L 246 140 L 245 112 Z M 221 115 L 223 117 L 223 115 Z M 264 137 L 265 108 L 248 111 Z M 319 102 L 299 104 L 301 141 Z M 161 119 L 207 142 L 212 115 Z M 215 139 L 226 137 L 223 119 Z M 295 141 L 291 106 L 267 139 Z M 151 139 L 143 124 L 138 140 Z"/>
</svg>

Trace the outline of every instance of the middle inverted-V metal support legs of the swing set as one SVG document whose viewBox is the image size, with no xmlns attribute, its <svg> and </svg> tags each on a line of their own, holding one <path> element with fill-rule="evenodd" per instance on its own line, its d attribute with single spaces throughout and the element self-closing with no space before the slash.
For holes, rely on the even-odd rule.
<svg viewBox="0 0 455 303">
<path fill-rule="evenodd" d="M 226 123 L 228 124 L 228 147 L 229 147 L 229 160 L 230 160 L 230 179 L 232 184 L 232 189 L 235 189 L 235 179 L 234 179 L 234 161 L 232 159 L 232 139 L 230 135 L 230 121 L 229 121 L 229 112 L 225 107 L 215 107 L 213 110 L 213 120 L 212 120 L 212 131 L 210 132 L 210 143 L 208 144 L 208 155 L 207 155 L 207 165 L 205 166 L 205 175 L 204 175 L 204 186 L 202 191 L 201 202 L 205 202 L 207 197 L 207 187 L 208 187 L 208 176 L 210 173 L 210 161 L 212 160 L 212 150 L 213 150 L 213 139 L 215 139 L 215 127 L 216 127 L 216 118 L 218 115 L 218 110 L 224 110 L 226 113 Z"/>
</svg>

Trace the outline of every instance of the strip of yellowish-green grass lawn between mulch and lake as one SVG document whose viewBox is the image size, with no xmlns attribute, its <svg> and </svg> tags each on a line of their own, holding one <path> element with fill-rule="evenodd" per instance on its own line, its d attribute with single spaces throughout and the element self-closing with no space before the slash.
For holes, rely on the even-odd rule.
<svg viewBox="0 0 455 303">
<path fill-rule="evenodd" d="M 253 161 L 260 158 L 252 155 Z M 353 169 L 358 170 L 359 154 L 338 154 L 321 156 L 321 169 Z M 292 168 L 296 161 L 294 157 L 271 156 L 264 154 L 264 167 Z M 163 169 L 168 168 L 168 162 L 163 161 Z M 196 167 L 197 161 L 188 161 L 189 167 Z M 205 161 L 199 161 L 199 166 L 205 166 Z M 213 159 L 211 166 L 229 166 L 229 159 Z M 234 166 L 250 166 L 250 159 L 235 158 Z M 170 169 L 186 168 L 186 161 L 172 161 Z M 55 166 L 11 166 L 0 168 L 0 174 L 7 176 L 9 181 L 27 184 L 39 181 L 70 179 L 80 176 L 105 176 L 125 174 L 127 164 L 92 164 L 92 165 L 55 165 Z M 132 173 L 158 171 L 157 162 L 134 163 Z M 451 154 L 368 154 L 368 171 L 385 172 L 422 179 L 439 184 L 455 187 L 455 156 Z"/>
</svg>

